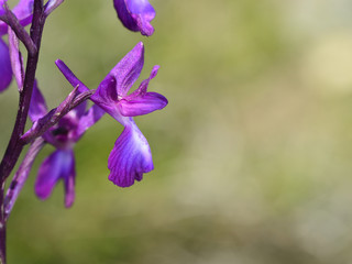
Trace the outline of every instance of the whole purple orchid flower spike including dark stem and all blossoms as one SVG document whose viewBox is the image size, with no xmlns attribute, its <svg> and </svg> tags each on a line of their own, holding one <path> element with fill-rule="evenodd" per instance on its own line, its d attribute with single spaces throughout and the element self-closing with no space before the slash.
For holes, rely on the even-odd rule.
<svg viewBox="0 0 352 264">
<path fill-rule="evenodd" d="M 109 179 L 120 187 L 129 187 L 141 180 L 144 173 L 154 168 L 150 145 L 135 124 L 133 117 L 161 110 L 167 99 L 147 91 L 150 81 L 156 76 L 154 66 L 147 79 L 129 94 L 139 78 L 144 64 L 144 45 L 138 43 L 102 79 L 97 89 L 89 89 L 64 62 L 56 66 L 73 86 L 73 91 L 57 107 L 48 110 L 35 78 L 38 51 L 44 23 L 64 0 L 20 0 L 10 10 L 7 0 L 0 0 L 0 92 L 4 91 L 14 77 L 20 105 L 8 148 L 0 164 L 1 186 L 14 168 L 23 146 L 31 144 L 7 191 L 0 194 L 0 263 L 6 263 L 6 223 L 33 165 L 45 144 L 55 151 L 41 164 L 35 180 L 35 194 L 46 199 L 55 185 L 63 180 L 65 206 L 75 200 L 74 145 L 100 118 L 108 113 L 124 129 L 117 139 L 108 160 Z M 122 24 L 142 35 L 151 36 L 151 21 L 155 10 L 147 0 L 113 0 L 113 7 Z M 30 25 L 28 32 L 24 26 Z M 6 42 L 7 37 L 7 42 Z M 28 51 L 26 65 L 20 52 L 20 43 Z M 94 103 L 88 108 L 87 99 Z M 32 127 L 24 132 L 28 117 Z"/>
</svg>

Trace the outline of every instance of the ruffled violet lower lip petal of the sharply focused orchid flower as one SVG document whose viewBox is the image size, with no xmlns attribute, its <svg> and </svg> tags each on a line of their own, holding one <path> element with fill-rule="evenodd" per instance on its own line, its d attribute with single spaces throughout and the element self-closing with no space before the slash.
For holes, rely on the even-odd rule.
<svg viewBox="0 0 352 264">
<path fill-rule="evenodd" d="M 109 179 L 120 187 L 133 185 L 154 168 L 150 145 L 134 123 L 125 127 L 116 141 L 108 168 Z"/>
</svg>

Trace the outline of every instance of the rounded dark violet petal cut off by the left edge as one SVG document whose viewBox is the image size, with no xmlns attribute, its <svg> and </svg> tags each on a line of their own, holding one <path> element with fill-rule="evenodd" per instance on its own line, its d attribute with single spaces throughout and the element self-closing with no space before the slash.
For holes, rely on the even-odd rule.
<svg viewBox="0 0 352 264">
<path fill-rule="evenodd" d="M 0 92 L 7 89 L 12 80 L 9 47 L 0 38 Z"/>
</svg>

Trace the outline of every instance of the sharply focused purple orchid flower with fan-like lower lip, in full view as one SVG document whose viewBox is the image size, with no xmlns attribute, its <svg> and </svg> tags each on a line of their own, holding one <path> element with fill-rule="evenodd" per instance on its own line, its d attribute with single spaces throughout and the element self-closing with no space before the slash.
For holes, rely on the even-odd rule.
<svg viewBox="0 0 352 264">
<path fill-rule="evenodd" d="M 77 78 L 67 66 L 61 61 L 56 64 L 67 80 L 76 85 Z M 143 64 L 144 46 L 139 43 L 111 69 L 90 97 L 124 127 L 108 161 L 109 179 L 120 187 L 133 185 L 134 180 L 141 180 L 144 173 L 154 168 L 150 145 L 132 117 L 161 110 L 167 105 L 164 96 L 147 92 L 148 82 L 156 76 L 158 66 L 154 66 L 150 77 L 142 81 L 139 89 L 128 95 L 139 78 Z"/>
</svg>

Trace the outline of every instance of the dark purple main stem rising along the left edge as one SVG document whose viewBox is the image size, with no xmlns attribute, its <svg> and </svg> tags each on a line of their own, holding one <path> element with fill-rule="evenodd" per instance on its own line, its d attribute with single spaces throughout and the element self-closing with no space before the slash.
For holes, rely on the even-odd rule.
<svg viewBox="0 0 352 264">
<path fill-rule="evenodd" d="M 23 148 L 21 135 L 29 113 L 31 96 L 38 61 L 42 33 L 45 23 L 43 0 L 34 0 L 33 20 L 30 36 L 36 47 L 34 54 L 29 51 L 23 90 L 20 92 L 18 116 L 8 147 L 0 164 L 0 262 L 6 264 L 6 215 L 3 208 L 4 183 L 12 172 Z M 14 30 L 15 31 L 15 30 Z"/>
</svg>

